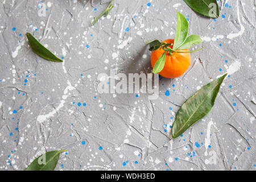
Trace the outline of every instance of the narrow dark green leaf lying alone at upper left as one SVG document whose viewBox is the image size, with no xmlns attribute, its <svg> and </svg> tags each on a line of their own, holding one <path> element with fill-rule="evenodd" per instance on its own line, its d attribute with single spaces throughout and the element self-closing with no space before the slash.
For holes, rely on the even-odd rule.
<svg viewBox="0 0 256 182">
<path fill-rule="evenodd" d="M 63 62 L 63 60 L 61 60 L 58 57 L 56 57 L 55 55 L 53 55 L 53 53 L 51 53 L 51 51 L 49 51 L 42 44 L 40 44 L 38 42 L 38 40 L 36 40 L 34 38 L 34 36 L 32 36 L 30 33 L 27 32 L 26 35 L 27 35 L 27 39 L 28 39 L 28 42 L 30 43 L 32 51 L 34 51 L 37 55 L 43 57 L 44 59 L 50 60 L 50 61 Z"/>
</svg>

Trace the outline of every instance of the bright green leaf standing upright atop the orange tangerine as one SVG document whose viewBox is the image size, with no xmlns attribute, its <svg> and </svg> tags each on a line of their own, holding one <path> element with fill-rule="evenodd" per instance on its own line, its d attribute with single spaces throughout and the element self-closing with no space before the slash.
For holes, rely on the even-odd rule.
<svg viewBox="0 0 256 182">
<path fill-rule="evenodd" d="M 176 34 L 174 40 L 174 47 L 172 49 L 176 50 L 180 47 L 188 36 L 188 20 L 181 13 L 177 12 L 177 24 L 176 24 Z"/>
</svg>

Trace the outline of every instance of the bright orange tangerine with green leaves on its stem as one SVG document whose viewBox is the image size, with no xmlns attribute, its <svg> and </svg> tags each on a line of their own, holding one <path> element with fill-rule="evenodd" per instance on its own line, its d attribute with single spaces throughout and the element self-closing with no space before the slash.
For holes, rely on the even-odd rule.
<svg viewBox="0 0 256 182">
<path fill-rule="evenodd" d="M 167 39 L 163 42 L 167 44 L 173 44 L 174 39 Z M 172 46 L 170 46 L 172 48 Z M 189 51 L 189 49 L 179 49 L 176 51 Z M 154 68 L 156 61 L 159 57 L 164 53 L 163 49 L 157 49 L 156 51 L 152 51 L 151 53 L 151 65 Z M 180 52 L 172 52 L 170 55 L 166 52 L 166 63 L 164 64 L 164 68 L 159 75 L 166 78 L 176 78 L 183 75 L 189 66 L 191 65 L 191 56 L 190 53 L 180 53 Z"/>
</svg>

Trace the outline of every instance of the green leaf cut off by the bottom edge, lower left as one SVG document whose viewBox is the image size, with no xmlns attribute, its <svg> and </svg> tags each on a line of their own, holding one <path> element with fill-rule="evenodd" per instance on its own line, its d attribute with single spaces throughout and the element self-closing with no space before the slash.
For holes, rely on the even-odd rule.
<svg viewBox="0 0 256 182">
<path fill-rule="evenodd" d="M 49 151 L 46 154 L 40 155 L 27 168 L 26 171 L 53 171 L 59 161 L 60 151 Z"/>
</svg>

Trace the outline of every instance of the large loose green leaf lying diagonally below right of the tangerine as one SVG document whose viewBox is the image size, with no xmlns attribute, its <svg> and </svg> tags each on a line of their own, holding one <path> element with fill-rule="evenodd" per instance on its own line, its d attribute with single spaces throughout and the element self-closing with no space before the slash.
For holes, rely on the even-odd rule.
<svg viewBox="0 0 256 182">
<path fill-rule="evenodd" d="M 172 138 L 179 137 L 190 126 L 205 117 L 212 110 L 220 86 L 227 73 L 203 86 L 180 107 L 174 124 L 172 125 Z"/>
</svg>

